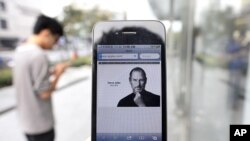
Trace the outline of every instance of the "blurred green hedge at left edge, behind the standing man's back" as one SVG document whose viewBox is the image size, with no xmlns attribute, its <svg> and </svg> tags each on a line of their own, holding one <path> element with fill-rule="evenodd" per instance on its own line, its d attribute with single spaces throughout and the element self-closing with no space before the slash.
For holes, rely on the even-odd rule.
<svg viewBox="0 0 250 141">
<path fill-rule="evenodd" d="M 12 85 L 12 71 L 9 68 L 0 69 L 0 88 Z"/>
</svg>

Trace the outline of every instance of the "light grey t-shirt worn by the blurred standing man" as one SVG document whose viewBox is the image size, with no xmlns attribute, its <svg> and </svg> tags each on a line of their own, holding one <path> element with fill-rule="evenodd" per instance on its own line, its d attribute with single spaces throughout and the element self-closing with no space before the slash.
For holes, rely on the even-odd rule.
<svg viewBox="0 0 250 141">
<path fill-rule="evenodd" d="M 39 134 L 54 127 L 51 99 L 39 94 L 49 89 L 49 62 L 37 45 L 17 47 L 14 58 L 14 86 L 17 95 L 18 117 L 27 134 Z"/>
</svg>

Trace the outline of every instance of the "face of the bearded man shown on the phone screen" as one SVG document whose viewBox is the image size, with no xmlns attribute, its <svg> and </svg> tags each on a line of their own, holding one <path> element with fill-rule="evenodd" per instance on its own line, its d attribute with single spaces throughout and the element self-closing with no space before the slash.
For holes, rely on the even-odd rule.
<svg viewBox="0 0 250 141">
<path fill-rule="evenodd" d="M 130 85 L 133 89 L 133 93 L 140 93 L 145 89 L 147 79 L 144 77 L 141 71 L 133 71 L 130 77 Z"/>
</svg>

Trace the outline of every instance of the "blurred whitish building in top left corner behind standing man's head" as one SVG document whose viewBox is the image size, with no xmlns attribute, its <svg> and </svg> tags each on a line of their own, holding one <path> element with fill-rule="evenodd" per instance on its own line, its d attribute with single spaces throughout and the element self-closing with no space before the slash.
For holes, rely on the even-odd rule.
<svg viewBox="0 0 250 141">
<path fill-rule="evenodd" d="M 0 48 L 13 49 L 32 33 L 39 10 L 13 0 L 0 0 Z"/>
</svg>

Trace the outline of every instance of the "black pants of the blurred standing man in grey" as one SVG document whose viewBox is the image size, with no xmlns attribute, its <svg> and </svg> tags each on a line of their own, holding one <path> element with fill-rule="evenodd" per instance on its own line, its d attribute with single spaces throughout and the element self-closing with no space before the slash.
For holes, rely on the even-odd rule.
<svg viewBox="0 0 250 141">
<path fill-rule="evenodd" d="M 52 129 L 42 134 L 36 134 L 36 135 L 26 134 L 26 137 L 28 141 L 54 141 L 55 132 L 54 129 Z"/>
</svg>

